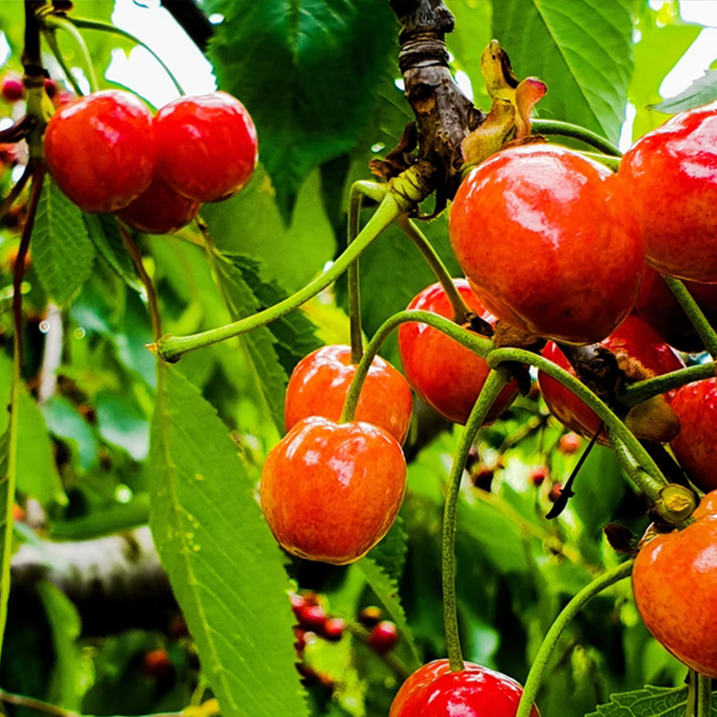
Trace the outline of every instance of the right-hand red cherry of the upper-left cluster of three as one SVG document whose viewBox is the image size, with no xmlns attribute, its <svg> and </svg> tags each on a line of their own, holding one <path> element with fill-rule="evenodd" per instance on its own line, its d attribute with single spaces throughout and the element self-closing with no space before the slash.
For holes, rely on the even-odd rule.
<svg viewBox="0 0 717 717">
<path fill-rule="evenodd" d="M 197 202 L 220 202 L 246 185 L 258 159 L 256 129 L 226 92 L 180 97 L 155 118 L 158 172 Z"/>
</svg>

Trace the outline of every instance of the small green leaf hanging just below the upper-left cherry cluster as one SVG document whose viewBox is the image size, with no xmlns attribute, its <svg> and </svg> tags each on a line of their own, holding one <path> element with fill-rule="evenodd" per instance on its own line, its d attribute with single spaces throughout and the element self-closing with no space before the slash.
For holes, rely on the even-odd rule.
<svg viewBox="0 0 717 717">
<path fill-rule="evenodd" d="M 87 281 L 95 248 L 82 212 L 47 177 L 30 239 L 39 280 L 58 304 L 65 304 Z"/>
</svg>

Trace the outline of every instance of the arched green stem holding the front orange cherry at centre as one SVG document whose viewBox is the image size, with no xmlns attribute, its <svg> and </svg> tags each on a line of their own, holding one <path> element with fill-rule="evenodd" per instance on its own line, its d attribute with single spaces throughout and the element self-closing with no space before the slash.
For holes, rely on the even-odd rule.
<svg viewBox="0 0 717 717">
<path fill-rule="evenodd" d="M 433 314 L 430 311 L 419 311 L 417 309 L 400 311 L 398 314 L 394 314 L 386 319 L 384 323 L 378 327 L 378 331 L 376 331 L 371 341 L 368 342 L 366 351 L 364 351 L 364 355 L 358 362 L 356 373 L 349 387 L 349 393 L 346 395 L 346 402 L 343 404 L 343 411 L 341 412 L 341 423 L 354 419 L 356 407 L 358 406 L 358 398 L 361 394 L 361 386 L 364 384 L 366 376 L 368 375 L 368 368 L 371 366 L 374 358 L 376 358 L 376 354 L 383 342 L 396 327 L 411 321 L 432 326 L 441 333 L 445 333 L 454 339 L 454 341 L 458 341 L 462 346 L 465 346 L 466 349 L 470 349 L 484 358 L 488 356 L 489 351 L 493 348 L 491 341 L 468 331 L 468 329 L 462 328 L 462 326 L 455 324 L 450 319 L 446 319 L 445 316 Z"/>
</svg>

